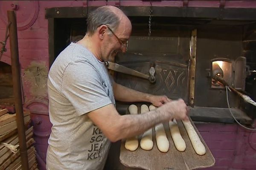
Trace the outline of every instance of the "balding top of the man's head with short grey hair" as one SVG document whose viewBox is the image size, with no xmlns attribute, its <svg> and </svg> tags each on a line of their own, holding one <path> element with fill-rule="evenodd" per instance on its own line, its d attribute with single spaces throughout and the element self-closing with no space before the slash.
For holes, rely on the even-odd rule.
<svg viewBox="0 0 256 170">
<path fill-rule="evenodd" d="M 92 11 L 87 18 L 87 33 L 93 34 L 99 26 L 108 25 L 115 31 L 121 22 L 129 22 L 122 10 L 115 6 L 101 6 Z"/>
</svg>

